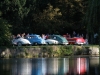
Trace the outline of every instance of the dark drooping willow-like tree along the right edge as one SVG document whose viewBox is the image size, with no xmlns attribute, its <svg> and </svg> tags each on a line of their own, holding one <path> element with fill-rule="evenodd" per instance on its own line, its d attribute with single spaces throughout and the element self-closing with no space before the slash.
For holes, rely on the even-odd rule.
<svg viewBox="0 0 100 75">
<path fill-rule="evenodd" d="M 100 0 L 89 0 L 88 9 L 85 16 L 85 24 L 87 25 L 87 34 L 89 42 L 93 44 L 94 34 L 100 34 Z"/>
</svg>

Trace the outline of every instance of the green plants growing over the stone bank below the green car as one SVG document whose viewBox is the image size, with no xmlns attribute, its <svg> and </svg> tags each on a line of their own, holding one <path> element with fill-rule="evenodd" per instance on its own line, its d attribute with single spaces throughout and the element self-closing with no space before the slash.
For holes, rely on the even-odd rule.
<svg viewBox="0 0 100 75">
<path fill-rule="evenodd" d="M 44 46 L 43 54 L 47 54 L 49 57 L 63 57 L 72 55 L 72 46 Z"/>
</svg>

